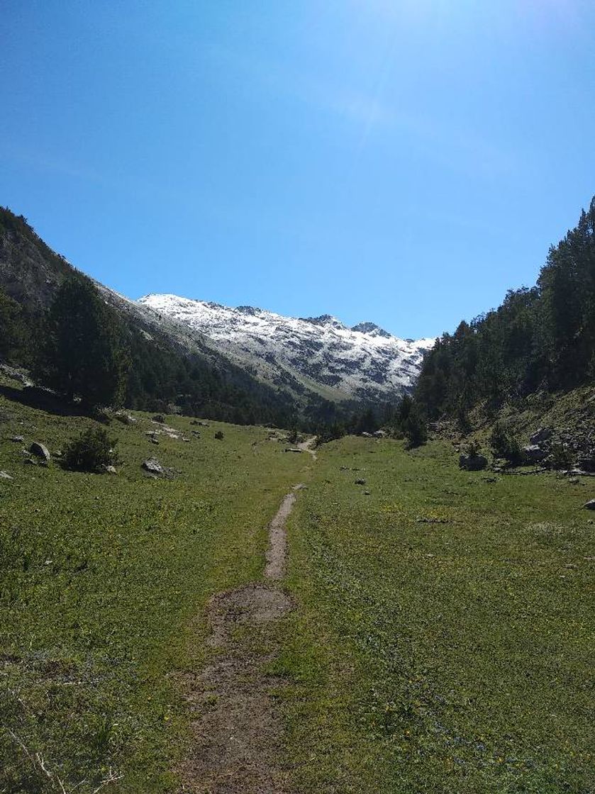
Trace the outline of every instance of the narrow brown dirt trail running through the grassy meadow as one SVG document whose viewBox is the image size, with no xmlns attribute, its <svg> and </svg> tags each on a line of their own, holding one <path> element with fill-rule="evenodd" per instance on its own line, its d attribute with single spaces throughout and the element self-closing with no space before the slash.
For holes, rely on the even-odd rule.
<svg viewBox="0 0 595 794">
<path fill-rule="evenodd" d="M 304 451 L 315 453 L 305 441 Z M 287 559 L 285 522 L 296 485 L 269 524 L 265 577 L 215 595 L 208 607 L 214 653 L 198 676 L 183 679 L 191 711 L 193 746 L 179 766 L 180 792 L 191 794 L 288 794 L 288 770 L 280 764 L 281 727 L 272 689 L 282 685 L 265 672 L 276 656 L 274 626 L 292 609 L 279 589 Z"/>
</svg>

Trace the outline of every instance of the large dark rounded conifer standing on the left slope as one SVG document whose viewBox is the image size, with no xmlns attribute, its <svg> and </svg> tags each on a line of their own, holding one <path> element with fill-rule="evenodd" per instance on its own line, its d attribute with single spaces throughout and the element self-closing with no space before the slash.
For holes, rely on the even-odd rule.
<svg viewBox="0 0 595 794">
<path fill-rule="evenodd" d="M 89 279 L 64 280 L 45 332 L 40 370 L 49 386 L 88 406 L 122 403 L 129 367 L 122 326 Z"/>
</svg>

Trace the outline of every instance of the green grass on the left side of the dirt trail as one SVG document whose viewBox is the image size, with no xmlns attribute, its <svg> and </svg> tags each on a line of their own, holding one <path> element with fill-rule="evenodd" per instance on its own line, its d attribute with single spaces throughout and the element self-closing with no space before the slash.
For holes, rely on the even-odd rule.
<svg viewBox="0 0 595 794">
<path fill-rule="evenodd" d="M 156 446 L 134 415 L 110 426 L 118 476 L 66 472 L 25 465 L 6 438 L 61 449 L 92 420 L 0 397 L 0 469 L 14 476 L 0 480 L 0 792 L 60 790 L 60 777 L 85 794 L 110 768 L 113 792 L 176 788 L 189 738 L 176 671 L 203 660 L 208 597 L 261 577 L 266 526 L 310 461 L 262 428 L 179 417 L 168 423 L 191 442 Z M 153 455 L 180 475 L 145 477 Z"/>
</svg>

